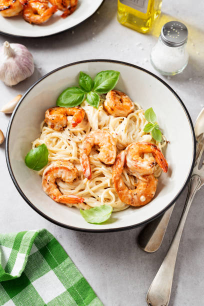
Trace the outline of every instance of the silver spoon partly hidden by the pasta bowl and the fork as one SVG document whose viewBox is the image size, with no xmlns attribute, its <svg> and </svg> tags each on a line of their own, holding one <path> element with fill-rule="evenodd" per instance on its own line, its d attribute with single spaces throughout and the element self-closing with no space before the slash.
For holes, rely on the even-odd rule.
<svg viewBox="0 0 204 306">
<path fill-rule="evenodd" d="M 196 140 L 199 140 L 199 135 L 204 132 L 204 108 L 197 116 L 194 125 Z M 196 155 L 197 158 L 197 155 Z M 161 245 L 168 221 L 173 211 L 175 203 L 160 217 L 149 222 L 139 233 L 137 243 L 141 249 L 146 252 L 155 252 Z"/>
</svg>

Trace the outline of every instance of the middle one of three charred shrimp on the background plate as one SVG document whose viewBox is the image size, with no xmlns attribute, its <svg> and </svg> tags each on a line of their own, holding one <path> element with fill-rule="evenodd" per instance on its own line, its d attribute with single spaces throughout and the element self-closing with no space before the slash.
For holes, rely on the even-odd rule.
<svg viewBox="0 0 204 306">
<path fill-rule="evenodd" d="M 56 10 L 56 5 L 49 7 L 47 0 L 29 0 L 24 4 L 22 15 L 29 23 L 39 24 L 47 21 Z"/>
</svg>

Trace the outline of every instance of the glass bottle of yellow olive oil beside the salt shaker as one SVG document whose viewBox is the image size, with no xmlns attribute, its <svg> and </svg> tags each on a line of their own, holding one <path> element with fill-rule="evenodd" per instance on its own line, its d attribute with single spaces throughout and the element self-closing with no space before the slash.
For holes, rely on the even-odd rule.
<svg viewBox="0 0 204 306">
<path fill-rule="evenodd" d="M 148 32 L 161 12 L 162 0 L 117 0 L 117 20 L 141 33 Z"/>
</svg>

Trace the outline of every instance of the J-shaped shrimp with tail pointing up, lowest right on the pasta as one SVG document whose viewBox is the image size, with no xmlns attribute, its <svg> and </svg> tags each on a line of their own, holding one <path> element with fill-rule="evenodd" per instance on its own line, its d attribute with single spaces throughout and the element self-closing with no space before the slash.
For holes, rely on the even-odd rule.
<svg viewBox="0 0 204 306">
<path fill-rule="evenodd" d="M 128 189 L 121 177 L 125 163 L 125 151 L 121 151 L 115 159 L 112 169 L 112 179 L 120 200 L 131 206 L 147 204 L 156 192 L 157 179 L 153 174 L 145 175 L 142 180 L 137 178 L 135 189 Z"/>
</svg>

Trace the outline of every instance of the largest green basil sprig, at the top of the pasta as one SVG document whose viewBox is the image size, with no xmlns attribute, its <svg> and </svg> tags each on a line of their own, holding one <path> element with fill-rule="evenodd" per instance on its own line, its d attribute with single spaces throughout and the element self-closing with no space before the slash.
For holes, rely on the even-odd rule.
<svg viewBox="0 0 204 306">
<path fill-rule="evenodd" d="M 100 71 L 94 79 L 80 71 L 78 84 L 79 87 L 68 87 L 58 96 L 57 106 L 73 107 L 86 101 L 89 105 L 98 108 L 100 97 L 99 94 L 106 93 L 113 89 L 119 79 L 119 72 L 114 70 Z"/>
</svg>

